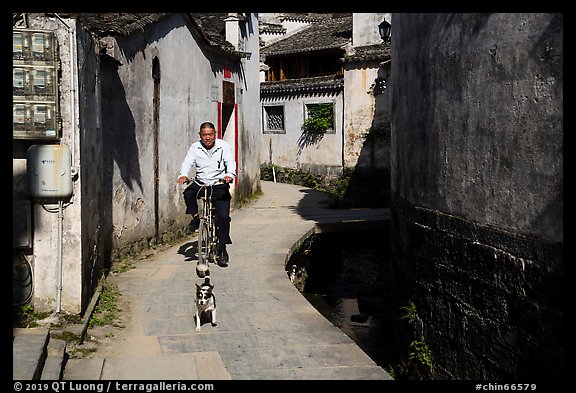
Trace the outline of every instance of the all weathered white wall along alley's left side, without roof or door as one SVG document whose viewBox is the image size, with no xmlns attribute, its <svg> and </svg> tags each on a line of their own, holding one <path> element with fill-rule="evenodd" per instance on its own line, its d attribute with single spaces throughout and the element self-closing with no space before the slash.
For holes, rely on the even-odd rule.
<svg viewBox="0 0 576 393">
<path fill-rule="evenodd" d="M 243 30 L 253 61 L 231 60 L 203 51 L 197 32 L 181 14 L 162 19 L 128 37 L 108 40 L 117 61 L 101 61 L 99 44 L 75 20 L 65 20 L 75 37 L 70 83 L 69 35 L 56 18 L 38 14 L 30 27 L 55 31 L 60 44 L 61 143 L 71 147 L 78 171 L 74 195 L 64 204 L 62 301 L 64 312 L 89 303 L 112 252 L 155 236 L 152 62 L 159 59 L 159 227 L 161 235 L 183 230 L 183 188 L 176 179 L 189 145 L 204 121 L 218 124 L 222 81 L 233 82 L 238 132 L 232 116 L 224 139 L 238 146 L 238 186 L 246 196 L 259 186 L 258 22 Z M 77 52 L 76 52 L 77 51 Z M 78 67 L 81 64 L 82 67 Z M 112 65 L 111 65 L 112 64 Z M 224 77 L 224 68 L 231 71 Z M 77 95 L 73 102 L 71 94 Z M 81 119 L 81 121 L 79 120 Z M 230 128 L 231 127 L 231 128 Z M 236 140 L 238 135 L 238 140 Z M 13 195 L 27 199 L 26 145 L 14 142 Z M 232 193 L 238 197 L 237 190 Z M 57 297 L 57 205 L 33 206 L 35 307 L 54 309 Z"/>
</svg>

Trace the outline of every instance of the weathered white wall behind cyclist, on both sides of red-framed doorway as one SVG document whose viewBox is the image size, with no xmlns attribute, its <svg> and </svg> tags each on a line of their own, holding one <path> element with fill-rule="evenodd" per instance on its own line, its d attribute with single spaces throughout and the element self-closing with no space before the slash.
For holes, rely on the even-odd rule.
<svg viewBox="0 0 576 393">
<path fill-rule="evenodd" d="M 252 17 L 255 26 L 244 33 L 252 40 L 257 32 L 257 20 Z M 143 34 L 143 33 L 142 33 Z M 112 194 L 112 223 L 114 245 L 119 246 L 142 237 L 153 236 L 154 206 L 153 160 L 153 88 L 150 77 L 152 59 L 158 58 L 161 70 L 160 82 L 160 121 L 159 121 L 159 195 L 161 232 L 183 227 L 189 222 L 184 214 L 182 186 L 176 183 L 180 164 L 190 144 L 198 140 L 199 126 L 211 121 L 218 126 L 218 102 L 222 101 L 222 81 L 235 84 L 235 99 L 238 104 L 238 132 L 235 116 L 224 124 L 223 139 L 233 147 L 238 145 L 239 179 L 237 185 L 248 182 L 246 192 L 252 192 L 258 186 L 259 166 L 254 157 L 258 157 L 259 143 L 248 137 L 258 129 L 259 113 L 251 110 L 259 101 L 257 86 L 258 48 L 251 41 L 246 51 L 252 51 L 250 60 L 242 60 L 241 67 L 234 67 L 230 59 L 210 55 L 206 57 L 197 37 L 181 19 L 149 27 L 146 35 L 157 39 L 145 47 L 140 47 L 141 34 L 116 39 L 117 60 L 123 66 L 118 69 L 120 84 L 124 89 L 126 108 L 119 116 L 129 114 L 133 121 L 131 138 L 135 149 L 132 157 L 118 157 L 114 160 Z M 257 42 L 257 39 L 255 40 Z M 257 44 L 256 44 L 257 45 Z M 133 53 L 131 58 L 124 54 Z M 185 55 L 183 55 L 185 54 Z M 231 77 L 225 78 L 224 68 L 229 67 Z M 194 70 L 194 72 L 182 72 Z M 250 78 L 250 79 L 248 79 Z M 237 140 L 238 139 L 238 140 Z M 243 143 L 240 143 L 244 141 Z M 254 146 L 252 146 L 254 144 Z M 253 149 L 256 149 L 254 154 Z M 149 157 L 150 159 L 146 159 Z M 235 194 L 235 188 L 231 190 Z"/>
</svg>

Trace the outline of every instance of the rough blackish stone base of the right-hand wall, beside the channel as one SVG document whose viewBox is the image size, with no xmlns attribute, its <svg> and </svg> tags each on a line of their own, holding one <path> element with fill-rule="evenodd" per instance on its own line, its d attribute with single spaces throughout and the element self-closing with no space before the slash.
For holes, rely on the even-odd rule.
<svg viewBox="0 0 576 393">
<path fill-rule="evenodd" d="M 429 345 L 435 379 L 561 377 L 561 245 L 398 199 L 393 212 L 392 292 L 418 311 L 405 345 Z"/>
</svg>

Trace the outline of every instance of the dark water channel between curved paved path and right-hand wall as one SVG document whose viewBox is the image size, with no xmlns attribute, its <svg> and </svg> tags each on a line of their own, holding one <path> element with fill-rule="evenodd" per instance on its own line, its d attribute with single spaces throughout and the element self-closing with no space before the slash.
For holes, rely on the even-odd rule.
<svg viewBox="0 0 576 393">
<path fill-rule="evenodd" d="M 387 229 L 316 234 L 286 266 L 310 304 L 386 370 L 398 362 L 387 318 L 389 239 Z"/>
</svg>

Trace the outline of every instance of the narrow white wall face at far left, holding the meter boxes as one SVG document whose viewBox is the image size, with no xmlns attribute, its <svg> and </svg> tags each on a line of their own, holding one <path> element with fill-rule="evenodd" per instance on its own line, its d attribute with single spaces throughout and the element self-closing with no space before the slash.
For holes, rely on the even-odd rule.
<svg viewBox="0 0 576 393">
<path fill-rule="evenodd" d="M 74 20 L 64 20 L 73 32 L 76 27 Z M 70 35 L 65 25 L 56 18 L 29 18 L 29 28 L 54 31 L 59 43 L 59 56 L 61 62 L 60 79 L 60 115 L 62 117 L 61 144 L 70 148 L 72 165 L 79 167 L 80 150 L 79 127 L 78 127 L 78 100 L 71 95 L 75 94 L 76 86 L 70 82 L 71 59 L 70 59 Z M 74 58 L 75 59 L 75 58 Z M 78 69 L 75 60 L 72 60 L 73 73 L 77 75 Z M 87 57 L 87 63 L 93 58 Z M 72 110 L 75 115 L 72 118 Z M 74 123 L 74 127 L 72 124 Z M 43 144 L 42 141 L 31 141 L 31 144 Z M 22 141 L 14 141 L 14 149 L 25 149 L 28 144 Z M 24 158 L 13 159 L 13 190 L 15 199 L 30 199 L 27 181 L 27 163 Z M 88 164 L 87 164 L 88 165 Z M 82 222 L 81 214 L 82 195 L 80 192 L 80 180 L 73 183 L 73 196 L 63 203 L 63 236 L 58 237 L 58 202 L 44 203 L 32 201 L 32 232 L 33 244 L 29 259 L 34 269 L 34 292 L 33 303 L 37 309 L 55 309 L 57 307 L 58 283 L 60 278 L 58 270 L 58 248 L 62 247 L 62 291 L 60 307 L 63 311 L 79 312 L 82 299 Z"/>
</svg>

